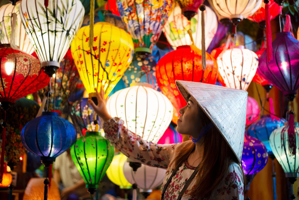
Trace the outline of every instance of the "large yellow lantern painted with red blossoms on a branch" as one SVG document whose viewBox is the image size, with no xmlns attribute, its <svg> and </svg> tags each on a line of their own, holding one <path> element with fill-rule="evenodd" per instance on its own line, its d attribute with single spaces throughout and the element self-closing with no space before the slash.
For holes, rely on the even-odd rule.
<svg viewBox="0 0 299 200">
<path fill-rule="evenodd" d="M 133 58 L 132 37 L 107 22 L 94 24 L 93 47 L 89 47 L 89 26 L 82 27 L 71 44 L 80 78 L 90 97 L 104 87 L 105 98 L 123 76 Z"/>
</svg>

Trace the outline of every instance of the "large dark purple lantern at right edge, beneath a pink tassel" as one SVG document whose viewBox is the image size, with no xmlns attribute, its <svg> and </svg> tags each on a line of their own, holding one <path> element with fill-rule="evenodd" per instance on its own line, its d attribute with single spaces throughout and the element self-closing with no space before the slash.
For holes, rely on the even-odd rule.
<svg viewBox="0 0 299 200">
<path fill-rule="evenodd" d="M 299 41 L 291 35 L 291 32 L 286 31 L 276 34 L 272 47 L 271 61 L 267 61 L 266 51 L 260 57 L 260 72 L 290 101 L 293 101 L 299 87 Z"/>
</svg>

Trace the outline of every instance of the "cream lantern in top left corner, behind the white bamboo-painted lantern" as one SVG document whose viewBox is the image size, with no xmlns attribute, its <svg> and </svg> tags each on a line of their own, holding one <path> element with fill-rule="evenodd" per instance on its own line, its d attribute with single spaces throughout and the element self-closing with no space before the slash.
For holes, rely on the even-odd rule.
<svg viewBox="0 0 299 200">
<path fill-rule="evenodd" d="M 21 50 L 27 54 L 33 53 L 34 49 L 30 43 L 30 40 L 26 34 L 25 28 L 22 24 L 19 6 L 21 1 L 16 2 L 16 5 L 11 3 L 5 4 L 0 8 L 0 18 L 2 19 L 0 23 L 0 43 L 10 44 L 12 48 Z M 13 13 L 16 13 L 16 24 L 13 27 Z M 13 36 L 14 30 L 14 36 Z M 13 36 L 13 38 L 11 38 Z"/>
</svg>

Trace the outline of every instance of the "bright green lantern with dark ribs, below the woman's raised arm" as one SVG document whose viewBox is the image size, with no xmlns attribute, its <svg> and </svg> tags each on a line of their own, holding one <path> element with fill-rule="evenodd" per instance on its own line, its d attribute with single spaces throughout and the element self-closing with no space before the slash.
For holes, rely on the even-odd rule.
<svg viewBox="0 0 299 200">
<path fill-rule="evenodd" d="M 98 131 L 86 131 L 71 147 L 72 159 L 93 194 L 114 156 L 114 147 Z"/>
</svg>

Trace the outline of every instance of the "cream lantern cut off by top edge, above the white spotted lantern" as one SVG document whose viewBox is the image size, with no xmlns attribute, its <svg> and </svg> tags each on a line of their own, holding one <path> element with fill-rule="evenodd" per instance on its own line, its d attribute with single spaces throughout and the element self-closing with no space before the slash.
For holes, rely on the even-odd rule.
<svg viewBox="0 0 299 200">
<path fill-rule="evenodd" d="M 253 15 L 263 0 L 208 0 L 215 12 L 228 19 L 240 19 Z"/>
</svg>

